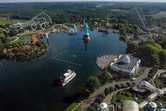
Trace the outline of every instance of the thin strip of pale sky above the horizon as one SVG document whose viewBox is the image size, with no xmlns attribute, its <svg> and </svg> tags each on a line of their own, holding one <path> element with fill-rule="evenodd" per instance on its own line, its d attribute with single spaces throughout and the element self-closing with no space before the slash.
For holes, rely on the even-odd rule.
<svg viewBox="0 0 166 111">
<path fill-rule="evenodd" d="M 5 3 L 5 2 L 63 2 L 63 1 L 166 2 L 166 0 L 0 0 L 0 3 Z"/>
</svg>

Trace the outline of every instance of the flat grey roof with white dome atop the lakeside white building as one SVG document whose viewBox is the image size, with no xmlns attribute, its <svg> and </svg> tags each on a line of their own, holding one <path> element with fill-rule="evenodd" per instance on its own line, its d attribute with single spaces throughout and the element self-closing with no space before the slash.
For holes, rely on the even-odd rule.
<svg viewBox="0 0 166 111">
<path fill-rule="evenodd" d="M 138 62 L 138 58 L 133 56 L 122 55 L 112 66 L 121 70 L 131 71 Z"/>
</svg>

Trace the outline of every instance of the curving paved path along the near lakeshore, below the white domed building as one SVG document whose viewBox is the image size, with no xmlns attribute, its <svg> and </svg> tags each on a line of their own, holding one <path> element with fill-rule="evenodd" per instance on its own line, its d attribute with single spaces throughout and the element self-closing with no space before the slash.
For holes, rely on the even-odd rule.
<svg viewBox="0 0 166 111">
<path fill-rule="evenodd" d="M 139 82 L 142 81 L 142 79 L 146 78 L 148 73 L 150 71 L 150 68 L 146 68 L 146 70 L 144 71 L 144 73 L 142 75 L 140 75 L 139 77 L 137 77 L 137 79 L 134 81 L 136 84 L 138 84 Z M 107 85 L 104 85 L 102 87 L 100 87 L 98 90 L 96 90 L 90 97 L 89 100 L 85 101 L 84 103 L 82 103 L 81 105 L 81 111 L 88 111 L 88 108 L 90 107 L 90 104 L 94 103 L 94 100 L 98 97 L 98 95 L 100 95 L 101 93 L 104 92 L 105 88 L 109 88 L 111 86 L 115 86 L 115 84 L 126 84 L 126 82 L 131 82 L 130 80 L 126 80 L 126 81 L 118 81 L 115 82 L 113 81 L 112 83 L 109 83 Z"/>
</svg>

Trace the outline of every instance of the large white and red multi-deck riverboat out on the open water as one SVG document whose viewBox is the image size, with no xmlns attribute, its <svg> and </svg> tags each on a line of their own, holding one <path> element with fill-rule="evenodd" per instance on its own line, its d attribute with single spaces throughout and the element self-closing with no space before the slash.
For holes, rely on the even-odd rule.
<svg viewBox="0 0 166 111">
<path fill-rule="evenodd" d="M 67 70 L 67 72 L 60 77 L 60 85 L 65 86 L 68 82 L 70 82 L 74 77 L 76 76 L 76 73 L 72 70 Z"/>
</svg>

